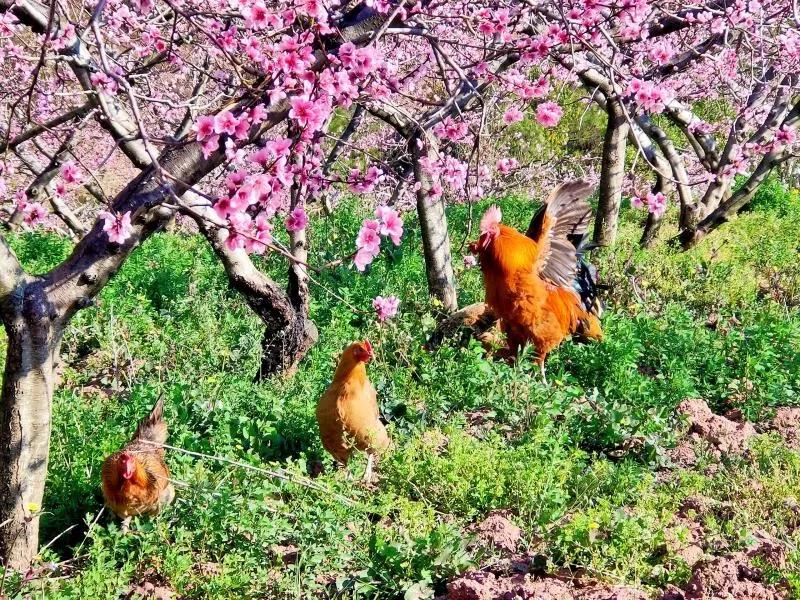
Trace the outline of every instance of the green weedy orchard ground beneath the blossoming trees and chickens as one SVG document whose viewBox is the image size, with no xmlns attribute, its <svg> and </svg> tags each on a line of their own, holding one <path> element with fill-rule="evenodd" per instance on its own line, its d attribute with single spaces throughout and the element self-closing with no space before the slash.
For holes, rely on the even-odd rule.
<svg viewBox="0 0 800 600">
<path fill-rule="evenodd" d="M 522 228 L 536 206 L 500 204 Z M 364 216 L 353 201 L 315 220 L 310 261 L 337 258 Z M 467 209 L 449 216 L 461 265 Z M 156 235 L 67 331 L 43 548 L 27 581 L 7 576 L 0 596 L 432 598 L 506 559 L 537 577 L 660 597 L 768 537 L 780 560 L 747 557 L 758 585 L 800 597 L 800 453 L 791 419 L 769 425 L 779 407 L 800 406 L 800 199 L 771 182 L 687 253 L 639 250 L 641 218 L 626 209 L 620 243 L 594 257 L 611 285 L 605 341 L 565 343 L 548 361 L 550 386 L 530 357 L 509 367 L 477 343 L 422 350 L 436 307 L 413 225 L 369 276 L 343 266 L 316 277 L 319 343 L 295 374 L 254 383 L 260 321 L 202 238 Z M 29 272 L 70 248 L 36 232 L 11 241 Z M 264 266 L 283 281 L 285 262 Z M 459 267 L 458 282 L 461 305 L 482 299 L 477 269 Z M 383 324 L 370 304 L 381 293 L 401 299 Z M 376 487 L 359 482 L 361 459 L 334 468 L 314 418 L 338 353 L 364 337 L 395 444 Z M 262 470 L 168 451 L 176 503 L 123 535 L 98 518 L 100 466 L 161 392 L 169 444 Z M 686 399 L 728 419 L 690 436 Z M 720 427 L 749 434 L 726 445 Z M 320 461 L 313 487 L 298 483 Z M 476 543 L 496 510 L 519 531 Z"/>
</svg>

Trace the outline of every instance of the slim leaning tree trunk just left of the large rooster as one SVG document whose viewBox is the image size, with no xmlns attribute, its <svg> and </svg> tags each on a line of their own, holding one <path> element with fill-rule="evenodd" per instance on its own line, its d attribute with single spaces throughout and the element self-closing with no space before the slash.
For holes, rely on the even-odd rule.
<svg viewBox="0 0 800 600">
<path fill-rule="evenodd" d="M 431 296 L 442 303 L 446 312 L 451 313 L 458 310 L 458 296 L 453 274 L 453 259 L 450 254 L 450 234 L 447 231 L 444 198 L 430 200 L 434 182 L 420 163 L 420 158 L 428 154 L 429 142 L 425 141 L 424 136 L 412 136 L 410 146 L 414 159 L 414 177 L 419 188 L 417 189 L 417 215 L 422 232 L 428 291 Z"/>
</svg>

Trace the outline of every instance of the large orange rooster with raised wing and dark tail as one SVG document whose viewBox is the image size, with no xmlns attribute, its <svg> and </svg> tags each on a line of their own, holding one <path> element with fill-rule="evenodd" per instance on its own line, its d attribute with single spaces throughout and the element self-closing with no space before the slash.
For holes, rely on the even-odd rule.
<svg viewBox="0 0 800 600">
<path fill-rule="evenodd" d="M 486 303 L 500 318 L 508 352 L 527 343 L 536 348 L 546 382 L 547 354 L 576 334 L 600 340 L 602 304 L 590 267 L 582 261 L 591 216 L 589 184 L 556 188 L 531 221 L 527 235 L 500 223 L 497 206 L 481 219 L 480 237 L 470 245 L 478 256 Z"/>
</svg>

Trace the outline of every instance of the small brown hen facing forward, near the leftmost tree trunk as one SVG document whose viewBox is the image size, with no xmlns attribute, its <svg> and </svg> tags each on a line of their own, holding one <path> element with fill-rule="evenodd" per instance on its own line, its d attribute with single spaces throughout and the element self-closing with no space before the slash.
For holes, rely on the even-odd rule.
<svg viewBox="0 0 800 600">
<path fill-rule="evenodd" d="M 123 519 L 124 530 L 131 517 L 156 514 L 175 498 L 164 448 L 160 446 L 166 441 L 162 397 L 139 423 L 128 445 L 103 463 L 103 497 L 106 506 Z"/>
</svg>

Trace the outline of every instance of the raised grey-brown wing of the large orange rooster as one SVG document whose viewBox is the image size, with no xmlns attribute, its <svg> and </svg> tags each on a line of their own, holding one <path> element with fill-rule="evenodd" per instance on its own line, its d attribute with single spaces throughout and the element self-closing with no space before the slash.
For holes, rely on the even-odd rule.
<svg viewBox="0 0 800 600">
<path fill-rule="evenodd" d="M 592 209 L 586 198 L 592 186 L 585 181 L 562 183 L 531 220 L 526 235 L 539 246 L 534 271 L 550 283 L 572 289 L 577 272 L 570 237 L 586 233 Z"/>
</svg>

